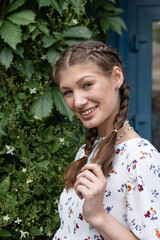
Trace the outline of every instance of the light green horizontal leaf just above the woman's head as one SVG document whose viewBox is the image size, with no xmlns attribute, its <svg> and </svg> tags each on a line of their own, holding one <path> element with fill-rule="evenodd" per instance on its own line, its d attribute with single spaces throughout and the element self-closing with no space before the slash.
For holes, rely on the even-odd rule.
<svg viewBox="0 0 160 240">
<path fill-rule="evenodd" d="M 82 26 L 82 27 L 72 27 L 69 28 L 67 31 L 63 33 L 64 37 L 69 38 L 85 38 L 89 39 L 92 37 L 92 32 L 89 28 Z"/>
</svg>

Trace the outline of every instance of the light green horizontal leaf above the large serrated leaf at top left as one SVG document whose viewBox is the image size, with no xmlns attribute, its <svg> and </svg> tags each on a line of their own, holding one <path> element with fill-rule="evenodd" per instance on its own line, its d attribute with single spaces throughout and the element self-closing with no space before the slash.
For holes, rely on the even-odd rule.
<svg viewBox="0 0 160 240">
<path fill-rule="evenodd" d="M 22 10 L 9 15 L 7 19 L 17 25 L 27 25 L 34 22 L 35 16 L 36 14 L 31 10 Z"/>
</svg>

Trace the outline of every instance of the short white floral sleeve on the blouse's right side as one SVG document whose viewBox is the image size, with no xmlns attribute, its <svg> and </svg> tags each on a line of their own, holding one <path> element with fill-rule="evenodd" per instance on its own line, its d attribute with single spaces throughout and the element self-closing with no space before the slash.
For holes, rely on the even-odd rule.
<svg viewBox="0 0 160 240">
<path fill-rule="evenodd" d="M 160 238 L 160 154 L 151 146 L 133 155 L 128 170 L 128 224 L 141 240 Z"/>
</svg>

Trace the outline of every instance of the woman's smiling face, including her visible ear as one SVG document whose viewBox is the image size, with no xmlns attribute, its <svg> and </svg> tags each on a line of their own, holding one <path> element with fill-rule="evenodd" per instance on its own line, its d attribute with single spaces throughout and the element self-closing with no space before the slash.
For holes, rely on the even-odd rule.
<svg viewBox="0 0 160 240">
<path fill-rule="evenodd" d="M 101 136 L 113 128 L 122 83 L 123 75 L 118 67 L 106 77 L 94 63 L 70 66 L 61 72 L 59 78 L 60 90 L 68 107 L 86 128 L 97 127 Z"/>
</svg>

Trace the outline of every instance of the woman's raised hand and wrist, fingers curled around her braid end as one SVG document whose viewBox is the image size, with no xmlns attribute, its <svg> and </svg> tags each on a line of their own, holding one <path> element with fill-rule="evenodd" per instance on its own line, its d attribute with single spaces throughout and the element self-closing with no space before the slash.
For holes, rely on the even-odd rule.
<svg viewBox="0 0 160 240">
<path fill-rule="evenodd" d="M 77 176 L 74 185 L 77 195 L 84 200 L 83 216 L 94 226 L 105 214 L 103 198 L 107 181 L 99 165 L 95 163 L 86 164 Z"/>
</svg>

